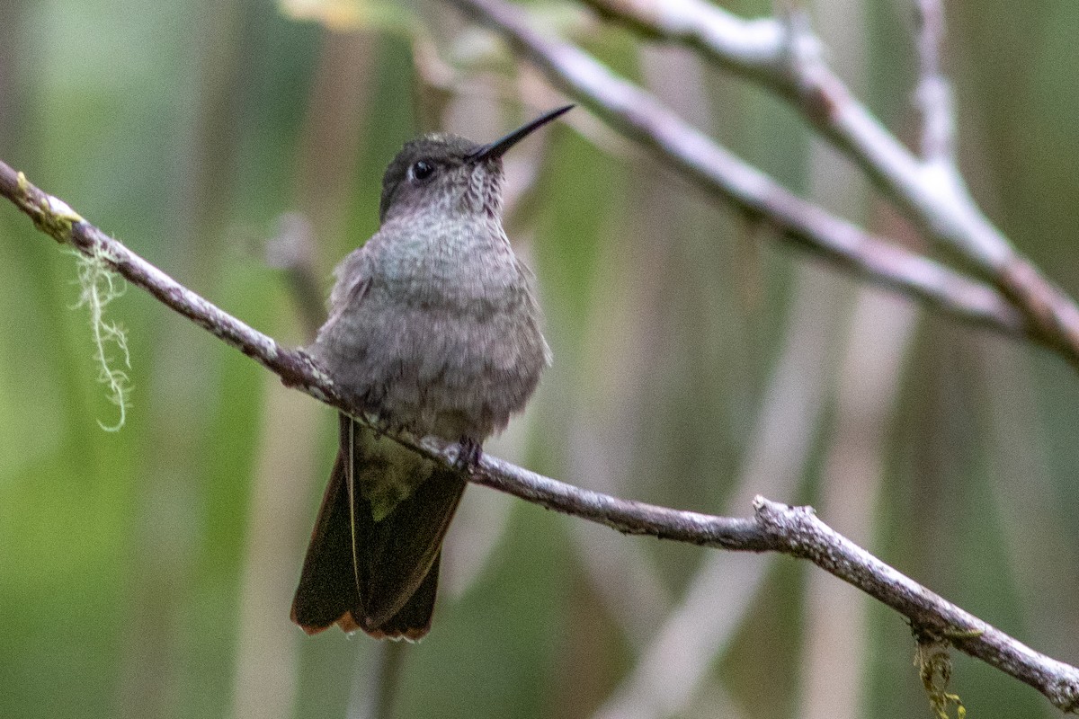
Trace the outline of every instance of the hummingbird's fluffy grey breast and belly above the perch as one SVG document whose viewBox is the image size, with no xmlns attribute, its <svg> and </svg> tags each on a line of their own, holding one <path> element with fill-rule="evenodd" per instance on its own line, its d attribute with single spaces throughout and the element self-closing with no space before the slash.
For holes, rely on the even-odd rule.
<svg viewBox="0 0 1079 719">
<path fill-rule="evenodd" d="M 550 363 L 532 273 L 496 220 L 387 223 L 337 275 L 311 352 L 393 424 L 482 441 Z"/>
</svg>

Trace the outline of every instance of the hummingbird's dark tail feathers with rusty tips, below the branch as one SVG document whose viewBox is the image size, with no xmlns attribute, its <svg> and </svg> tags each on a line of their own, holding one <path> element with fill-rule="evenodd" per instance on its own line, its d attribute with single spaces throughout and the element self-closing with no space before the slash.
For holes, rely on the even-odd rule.
<svg viewBox="0 0 1079 719">
<path fill-rule="evenodd" d="M 358 450 L 368 444 L 351 432 L 367 431 L 341 415 L 341 447 L 311 533 L 292 621 L 308 634 L 336 623 L 345 632 L 414 640 L 431 628 L 442 538 L 466 482 L 439 467 L 375 522 L 370 502 L 350 486 L 366 461 Z"/>
</svg>

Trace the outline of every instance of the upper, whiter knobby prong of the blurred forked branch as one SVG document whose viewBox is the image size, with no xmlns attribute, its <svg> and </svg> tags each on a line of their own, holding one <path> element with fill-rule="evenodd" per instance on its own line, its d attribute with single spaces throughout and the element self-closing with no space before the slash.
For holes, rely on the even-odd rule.
<svg viewBox="0 0 1079 719">
<path fill-rule="evenodd" d="M 604 17 L 696 49 L 726 70 L 791 102 L 930 236 L 999 272 L 1014 250 L 957 176 L 927 168 L 824 61 L 803 11 L 746 20 L 704 0 L 584 0 Z M 794 18 L 797 18 L 796 22 Z"/>
</svg>

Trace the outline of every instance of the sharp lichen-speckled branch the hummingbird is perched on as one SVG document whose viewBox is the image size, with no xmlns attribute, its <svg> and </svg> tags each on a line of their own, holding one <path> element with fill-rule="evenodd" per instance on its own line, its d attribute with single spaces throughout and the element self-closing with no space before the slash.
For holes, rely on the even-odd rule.
<svg viewBox="0 0 1079 719">
<path fill-rule="evenodd" d="M 281 376 L 290 386 L 339 410 L 357 412 L 299 349 L 288 349 L 187 289 L 121 243 L 90 224 L 66 203 L 30 184 L 0 162 L 0 195 L 13 202 L 57 241 L 104 262 L 175 312 Z M 452 465 L 460 447 L 435 438 L 395 435 L 426 456 Z M 732 551 L 779 552 L 809 559 L 906 617 L 920 635 L 956 648 L 1030 685 L 1065 711 L 1079 711 L 1079 668 L 1046 656 L 946 602 L 846 539 L 817 518 L 811 508 L 788 507 L 763 497 L 749 518 L 713 516 L 645 504 L 581 489 L 496 457 L 483 456 L 470 481 L 627 535 L 648 535 Z"/>
</svg>

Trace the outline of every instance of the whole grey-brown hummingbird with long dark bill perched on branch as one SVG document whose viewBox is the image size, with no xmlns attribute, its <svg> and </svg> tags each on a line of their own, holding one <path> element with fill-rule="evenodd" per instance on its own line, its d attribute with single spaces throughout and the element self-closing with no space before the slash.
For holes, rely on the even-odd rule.
<svg viewBox="0 0 1079 719">
<path fill-rule="evenodd" d="M 524 409 L 550 364 L 532 272 L 502 226 L 502 155 L 565 106 L 488 144 L 407 142 L 386 168 L 379 230 L 337 267 L 308 352 L 385 427 L 459 441 L 435 462 L 339 416 L 291 619 L 418 640 L 431 628 L 442 539 L 483 441 Z"/>
</svg>

